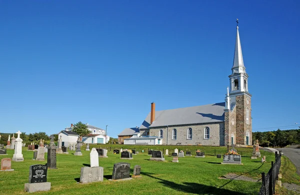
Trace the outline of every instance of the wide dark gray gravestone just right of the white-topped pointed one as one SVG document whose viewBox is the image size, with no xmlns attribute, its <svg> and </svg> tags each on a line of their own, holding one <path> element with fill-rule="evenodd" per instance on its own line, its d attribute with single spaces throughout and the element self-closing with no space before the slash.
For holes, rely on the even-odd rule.
<svg viewBox="0 0 300 195">
<path fill-rule="evenodd" d="M 113 164 L 111 180 L 127 180 L 130 178 L 130 164 L 126 162 L 118 162 Z"/>
</svg>

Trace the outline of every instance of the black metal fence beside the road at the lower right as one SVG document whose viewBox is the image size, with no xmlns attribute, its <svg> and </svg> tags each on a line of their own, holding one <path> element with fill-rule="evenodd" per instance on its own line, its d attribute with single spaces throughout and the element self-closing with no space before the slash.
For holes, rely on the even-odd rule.
<svg viewBox="0 0 300 195">
<path fill-rule="evenodd" d="M 281 165 L 281 150 L 279 154 L 275 152 L 275 163 L 271 163 L 271 168 L 265 175 L 264 172 L 261 173 L 261 187 L 258 195 L 270 195 L 275 194 L 275 182 L 278 180 L 278 174 Z"/>
</svg>

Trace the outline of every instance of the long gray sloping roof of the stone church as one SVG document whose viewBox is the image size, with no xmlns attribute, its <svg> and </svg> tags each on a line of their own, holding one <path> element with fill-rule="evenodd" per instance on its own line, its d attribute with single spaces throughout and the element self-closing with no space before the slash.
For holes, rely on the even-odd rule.
<svg viewBox="0 0 300 195">
<path fill-rule="evenodd" d="M 198 124 L 224 121 L 225 102 L 155 111 L 155 120 L 150 125 L 150 113 L 140 129 L 166 125 Z"/>
</svg>

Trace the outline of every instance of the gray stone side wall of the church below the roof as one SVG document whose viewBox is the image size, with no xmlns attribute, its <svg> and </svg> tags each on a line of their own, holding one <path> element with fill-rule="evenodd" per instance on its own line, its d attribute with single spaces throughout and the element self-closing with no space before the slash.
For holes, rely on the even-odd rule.
<svg viewBox="0 0 300 195">
<path fill-rule="evenodd" d="M 209 139 L 204 139 L 204 128 L 209 127 Z M 172 139 L 172 130 L 176 129 L 177 138 Z M 187 129 L 192 129 L 192 138 L 187 139 Z M 162 129 L 162 144 L 175 145 L 181 143 L 182 145 L 196 143 L 202 145 L 224 145 L 224 122 L 206 123 L 206 124 L 192 124 L 192 125 L 176 125 L 167 127 L 154 127 L 150 129 L 150 136 L 159 136 L 159 130 Z"/>
</svg>

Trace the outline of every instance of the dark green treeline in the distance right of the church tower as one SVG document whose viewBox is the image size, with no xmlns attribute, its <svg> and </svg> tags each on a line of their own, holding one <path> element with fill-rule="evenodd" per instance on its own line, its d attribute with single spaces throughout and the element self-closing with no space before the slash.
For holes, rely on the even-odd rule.
<svg viewBox="0 0 300 195">
<path fill-rule="evenodd" d="M 258 139 L 261 146 L 286 146 L 300 144 L 300 129 L 252 132 L 252 141 Z"/>
</svg>

